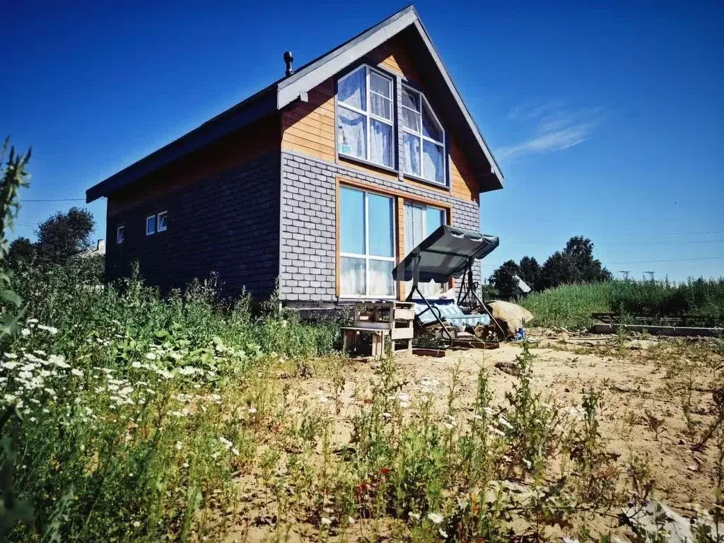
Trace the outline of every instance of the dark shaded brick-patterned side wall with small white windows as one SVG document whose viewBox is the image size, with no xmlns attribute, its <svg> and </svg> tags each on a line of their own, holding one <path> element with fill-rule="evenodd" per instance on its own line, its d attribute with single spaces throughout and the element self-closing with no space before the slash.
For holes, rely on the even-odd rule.
<svg viewBox="0 0 724 543">
<path fill-rule="evenodd" d="M 224 293 L 267 298 L 279 274 L 279 169 L 279 152 L 268 153 L 110 217 L 106 275 L 125 276 L 138 261 L 146 282 L 168 290 L 216 272 Z M 168 230 L 146 236 L 146 216 L 159 211 Z"/>
</svg>

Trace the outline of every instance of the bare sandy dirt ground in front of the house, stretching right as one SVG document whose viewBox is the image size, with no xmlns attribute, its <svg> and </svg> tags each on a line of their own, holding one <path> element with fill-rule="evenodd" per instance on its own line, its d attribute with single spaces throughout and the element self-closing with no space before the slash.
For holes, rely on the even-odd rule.
<svg viewBox="0 0 724 543">
<path fill-rule="evenodd" d="M 564 406 L 580 406 L 584 389 L 601 390 L 602 434 L 608 450 L 621 455 L 621 460 L 631 454 L 647 460 L 656 481 L 654 495 L 681 513 L 691 515 L 691 503 L 711 505 L 716 487 L 717 447 L 712 439 L 702 451 L 694 450 L 691 434 L 686 432 L 681 398 L 672 390 L 683 378 L 682 361 L 678 358 L 683 356 L 684 363 L 691 362 L 686 358 L 688 353 L 678 353 L 682 340 L 649 338 L 626 340 L 622 344 L 615 336 L 568 335 L 531 330 L 535 387 L 550 395 L 551 403 Z M 504 343 L 496 350 L 466 350 L 444 358 L 403 353 L 396 355 L 395 361 L 398 375 L 406 383 L 403 392 L 414 395 L 420 382 L 437 379 L 442 412 L 445 391 L 456 366 L 460 369 L 460 407 L 473 405 L 480 368 L 489 372 L 494 403 L 503 403 L 505 392 L 515 381 L 515 377 L 505 371 L 505 365 L 513 363 L 520 354 L 521 345 Z M 721 356 L 712 353 L 707 365 L 699 363 L 692 377 L 692 411 L 699 423 L 698 435 L 715 420 L 712 391 L 720 384 L 714 368 L 722 363 Z M 369 394 L 371 380 L 378 369 L 378 361 L 350 361 L 340 394 L 342 410 L 335 424 L 334 438 L 339 445 L 349 442 L 350 416 L 355 411 L 355 403 Z M 303 379 L 295 382 L 295 387 L 300 387 L 312 400 L 334 397 L 329 379 Z M 647 422 L 649 415 L 661 421 L 655 431 Z"/>
</svg>

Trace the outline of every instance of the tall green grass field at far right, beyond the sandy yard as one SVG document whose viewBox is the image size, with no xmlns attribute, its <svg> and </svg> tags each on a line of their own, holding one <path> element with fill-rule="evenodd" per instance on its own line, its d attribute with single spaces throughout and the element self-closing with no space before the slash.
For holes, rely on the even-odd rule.
<svg viewBox="0 0 724 543">
<path fill-rule="evenodd" d="M 669 282 L 607 281 L 563 285 L 536 292 L 521 302 L 542 327 L 578 329 L 592 324 L 592 313 L 652 317 L 707 316 L 724 324 L 724 279 Z"/>
</svg>

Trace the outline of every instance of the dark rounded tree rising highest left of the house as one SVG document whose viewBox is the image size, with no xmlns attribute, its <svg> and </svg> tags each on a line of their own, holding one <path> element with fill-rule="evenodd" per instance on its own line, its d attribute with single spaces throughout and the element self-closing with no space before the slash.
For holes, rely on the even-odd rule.
<svg viewBox="0 0 724 543">
<path fill-rule="evenodd" d="M 92 245 L 90 235 L 96 227 L 88 209 L 71 208 L 58 212 L 38 225 L 35 250 L 43 266 L 64 265 L 73 256 Z"/>
</svg>

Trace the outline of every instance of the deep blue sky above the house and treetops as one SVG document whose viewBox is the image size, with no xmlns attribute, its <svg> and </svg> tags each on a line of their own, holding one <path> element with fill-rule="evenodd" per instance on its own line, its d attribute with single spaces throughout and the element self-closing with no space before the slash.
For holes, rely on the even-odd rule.
<svg viewBox="0 0 724 543">
<path fill-rule="evenodd" d="M 14 235 L 405 4 L 5 4 L 0 136 L 33 147 Z M 545 5 L 544 5 L 545 4 Z M 416 3 L 505 175 L 483 265 L 573 235 L 620 277 L 724 276 L 724 4 Z M 52 201 L 48 201 L 52 200 Z M 104 237 L 105 201 L 90 203 Z"/>
</svg>

